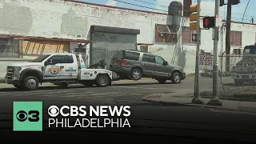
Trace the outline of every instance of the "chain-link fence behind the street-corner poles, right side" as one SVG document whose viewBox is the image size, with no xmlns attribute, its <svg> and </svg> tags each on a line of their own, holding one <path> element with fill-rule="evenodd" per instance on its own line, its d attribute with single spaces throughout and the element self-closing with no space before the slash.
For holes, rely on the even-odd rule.
<svg viewBox="0 0 256 144">
<path fill-rule="evenodd" d="M 256 92 L 256 54 L 219 55 L 218 90 L 220 97 L 234 97 Z M 202 97 L 212 94 L 212 70 L 201 70 Z"/>
</svg>

